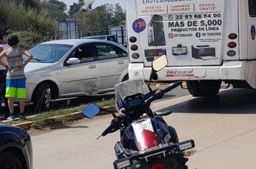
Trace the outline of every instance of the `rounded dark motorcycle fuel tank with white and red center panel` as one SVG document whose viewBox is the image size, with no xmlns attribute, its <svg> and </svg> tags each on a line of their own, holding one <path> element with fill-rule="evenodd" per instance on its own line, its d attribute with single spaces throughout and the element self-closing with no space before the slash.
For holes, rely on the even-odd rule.
<svg viewBox="0 0 256 169">
<path fill-rule="evenodd" d="M 129 154 L 165 144 L 169 140 L 168 126 L 160 117 L 136 120 L 121 133 L 122 146 L 131 151 Z"/>
</svg>

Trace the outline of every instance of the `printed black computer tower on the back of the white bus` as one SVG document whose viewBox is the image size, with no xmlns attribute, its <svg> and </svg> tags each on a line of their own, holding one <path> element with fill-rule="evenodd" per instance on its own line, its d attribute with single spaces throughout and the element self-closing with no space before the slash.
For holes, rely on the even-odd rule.
<svg viewBox="0 0 256 169">
<path fill-rule="evenodd" d="M 148 24 L 148 46 L 165 46 L 164 23 L 162 16 L 154 15 Z"/>
</svg>

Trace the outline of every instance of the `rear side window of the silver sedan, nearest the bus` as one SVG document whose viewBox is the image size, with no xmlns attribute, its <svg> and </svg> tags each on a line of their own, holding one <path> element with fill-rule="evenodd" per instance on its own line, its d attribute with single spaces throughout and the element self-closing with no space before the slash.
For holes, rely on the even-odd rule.
<svg viewBox="0 0 256 169">
<path fill-rule="evenodd" d="M 118 58 L 120 56 L 119 51 L 114 45 L 111 44 L 95 44 L 96 48 L 96 60 Z"/>
</svg>

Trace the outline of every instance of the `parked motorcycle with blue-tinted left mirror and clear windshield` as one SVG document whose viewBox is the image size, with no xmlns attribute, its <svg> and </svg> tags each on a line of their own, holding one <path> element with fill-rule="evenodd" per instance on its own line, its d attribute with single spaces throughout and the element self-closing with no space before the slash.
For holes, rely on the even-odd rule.
<svg viewBox="0 0 256 169">
<path fill-rule="evenodd" d="M 181 82 L 176 82 L 165 89 L 150 88 L 150 81 L 156 72 L 167 64 L 165 55 L 153 61 L 148 85 L 142 79 L 115 85 L 116 108 L 121 115 L 110 112 L 114 119 L 97 137 L 99 139 L 120 130 L 121 140 L 114 146 L 117 157 L 113 162 L 115 169 L 185 169 L 188 168 L 188 157 L 196 153 L 193 149 L 194 141 L 179 142 L 175 129 L 168 126 L 162 118 L 172 112 L 153 112 L 150 109 L 153 101 L 181 85 Z M 94 118 L 99 112 L 106 111 L 95 103 L 90 103 L 82 114 L 87 118 Z"/>
</svg>

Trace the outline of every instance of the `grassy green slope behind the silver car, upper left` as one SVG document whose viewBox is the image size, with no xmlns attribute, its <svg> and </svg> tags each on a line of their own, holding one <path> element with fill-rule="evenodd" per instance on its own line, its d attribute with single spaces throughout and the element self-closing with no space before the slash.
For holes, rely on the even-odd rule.
<svg viewBox="0 0 256 169">
<path fill-rule="evenodd" d="M 57 21 L 66 18 L 66 4 L 57 0 L 2 0 L 0 6 L 0 31 L 18 35 L 25 48 L 53 40 Z"/>
</svg>

